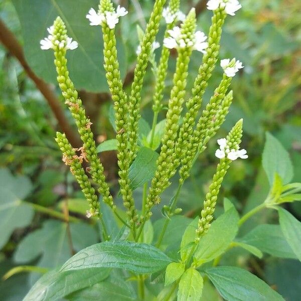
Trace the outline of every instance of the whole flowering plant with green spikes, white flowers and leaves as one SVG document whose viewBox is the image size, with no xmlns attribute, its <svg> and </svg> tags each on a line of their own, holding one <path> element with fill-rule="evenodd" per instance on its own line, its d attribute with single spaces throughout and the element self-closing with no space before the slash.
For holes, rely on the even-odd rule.
<svg viewBox="0 0 301 301">
<path fill-rule="evenodd" d="M 112 195 L 106 181 L 103 165 L 97 155 L 91 121 L 69 77 L 66 52 L 76 51 L 78 43 L 68 37 L 60 17 L 48 29 L 48 37 L 41 40 L 42 50 L 54 51 L 57 81 L 75 119 L 83 145 L 73 148 L 66 135 L 60 132 L 57 132 L 56 141 L 64 163 L 70 167 L 89 204 L 87 218 L 99 221 L 102 242 L 79 251 L 59 269 L 46 273 L 30 290 L 26 300 L 54 300 L 62 297 L 71 300 L 93 299 L 95 292 L 104 291 L 102 285 L 106 284 L 103 283 L 120 288 L 119 297 L 111 298 L 114 300 L 205 300 L 212 285 L 226 300 L 283 300 L 275 290 L 252 273 L 238 267 L 219 266 L 223 254 L 233 247 L 262 256 L 262 250 L 252 245 L 248 237 L 237 235 L 240 226 L 259 210 L 278 210 L 285 237 L 288 236 L 289 226 L 296 223 L 278 205 L 299 199 L 296 192 L 299 192 L 300 185 L 284 183 L 277 173 L 272 175 L 271 190 L 263 204 L 239 217 L 233 204 L 225 200 L 224 212 L 214 220 L 221 185 L 231 163 L 248 158 L 246 150 L 240 149 L 242 119 L 233 124 L 225 138 L 217 140 L 219 149 L 215 156 L 219 162 L 199 214 L 194 220 L 183 222 L 183 216 L 180 215 L 182 208 L 177 207 L 180 192 L 191 175 L 195 161 L 218 132 L 233 101 L 229 87 L 232 78 L 243 66 L 235 58 L 223 59 L 220 61 L 222 79 L 201 111 L 208 81 L 218 63 L 223 24 L 227 15 L 234 16 L 241 5 L 237 0 L 209 0 L 207 8 L 213 11 L 213 17 L 207 37 L 196 30 L 194 9 L 185 17 L 179 10 L 179 0 L 170 0 L 166 8 L 165 3 L 165 0 L 155 1 L 136 51 L 137 62 L 129 93 L 123 88 L 115 37 L 119 18 L 128 12 L 120 6 L 115 10 L 111 0 L 100 0 L 98 11 L 91 8 L 86 15 L 91 26 L 100 26 L 102 30 L 104 69 L 113 101 L 116 127 L 114 141 L 119 167 L 119 194 L 125 212 L 117 206 L 117 196 Z M 139 139 L 142 85 L 148 62 L 153 60 L 154 51 L 159 48 L 156 36 L 162 17 L 166 20 L 166 30 L 160 61 L 154 69 L 153 124 L 149 135 Z M 159 135 L 157 121 L 164 107 L 163 91 L 166 88 L 170 49 L 176 49 L 178 55 L 164 130 Z M 190 98 L 185 103 L 188 67 L 193 50 L 203 54 L 202 63 Z M 186 110 L 182 118 L 184 103 Z M 157 136 L 159 144 L 156 143 Z M 157 152 L 160 143 L 161 148 Z M 89 167 L 84 170 L 86 164 Z M 173 178 L 176 174 L 178 178 Z M 166 201 L 162 194 L 171 181 L 177 183 L 177 190 L 170 197 L 169 203 L 162 207 L 164 220 L 157 228 L 158 233 L 155 233 L 151 219 L 154 207 Z M 138 209 L 139 200 L 134 198 L 133 193 L 138 186 L 143 186 L 141 210 Z M 101 196 L 100 202 L 97 192 Z M 110 227 L 109 214 L 114 216 L 119 225 L 117 231 L 112 231 Z M 168 232 L 175 233 L 172 230 L 178 221 L 184 225 L 181 239 L 170 242 L 167 240 Z M 292 252 L 300 259 L 295 242 L 290 238 L 286 240 Z M 137 282 L 138 296 L 125 280 Z"/>
</svg>

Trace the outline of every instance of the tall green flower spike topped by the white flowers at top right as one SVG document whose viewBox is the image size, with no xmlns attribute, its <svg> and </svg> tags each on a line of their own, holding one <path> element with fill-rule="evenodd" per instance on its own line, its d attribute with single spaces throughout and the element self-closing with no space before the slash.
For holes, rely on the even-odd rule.
<svg viewBox="0 0 301 301">
<path fill-rule="evenodd" d="M 177 156 L 181 158 L 185 158 L 190 149 L 189 139 L 193 135 L 193 128 L 196 123 L 197 114 L 202 105 L 203 95 L 208 86 L 208 80 L 210 79 L 217 63 L 222 27 L 226 16 L 227 14 L 224 9 L 217 9 L 214 11 L 214 15 L 212 17 L 212 25 L 208 35 L 208 48 L 203 56 L 203 62 L 194 82 L 192 97 L 186 103 L 188 112 L 183 118 L 183 125 L 180 128 L 179 138 L 176 145 Z"/>
</svg>

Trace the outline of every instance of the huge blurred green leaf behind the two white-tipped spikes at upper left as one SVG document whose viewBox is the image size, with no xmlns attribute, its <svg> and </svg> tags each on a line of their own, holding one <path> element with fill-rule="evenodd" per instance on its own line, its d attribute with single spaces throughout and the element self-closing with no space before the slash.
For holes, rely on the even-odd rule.
<svg viewBox="0 0 301 301">
<path fill-rule="evenodd" d="M 78 48 L 68 51 L 68 69 L 77 89 L 92 92 L 107 91 L 103 69 L 101 28 L 89 26 L 85 18 L 89 9 L 97 8 L 98 1 L 13 0 L 21 23 L 26 60 L 38 77 L 57 84 L 53 51 L 43 51 L 40 40 L 48 35 L 46 29 L 60 16 L 66 24 L 68 36 L 78 42 Z M 120 26 L 120 25 L 119 25 Z M 118 32 L 118 31 L 117 31 Z M 126 51 L 122 39 L 117 38 L 118 60 L 125 73 Z"/>
</svg>

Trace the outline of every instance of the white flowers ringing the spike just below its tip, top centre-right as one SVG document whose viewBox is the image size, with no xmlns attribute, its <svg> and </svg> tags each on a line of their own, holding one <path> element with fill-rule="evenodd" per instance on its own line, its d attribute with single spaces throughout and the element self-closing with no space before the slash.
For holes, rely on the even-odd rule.
<svg viewBox="0 0 301 301">
<path fill-rule="evenodd" d="M 193 50 L 200 51 L 202 53 L 206 53 L 206 49 L 208 47 L 207 37 L 201 31 L 195 32 L 194 39 L 188 39 L 184 35 L 181 34 L 180 27 L 176 26 L 172 30 L 169 30 L 168 33 L 170 37 L 165 38 L 163 44 L 166 48 L 186 48 L 192 47 Z"/>
</svg>

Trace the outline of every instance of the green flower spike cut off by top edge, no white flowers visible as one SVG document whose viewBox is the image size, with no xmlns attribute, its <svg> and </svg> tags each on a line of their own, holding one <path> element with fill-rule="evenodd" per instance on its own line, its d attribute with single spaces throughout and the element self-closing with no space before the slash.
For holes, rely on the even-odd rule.
<svg viewBox="0 0 301 301">
<path fill-rule="evenodd" d="M 137 152 L 138 121 L 140 119 L 141 89 L 146 72 L 147 63 L 152 53 L 153 43 L 159 31 L 162 11 L 166 0 L 156 0 L 152 15 L 146 26 L 145 35 L 141 43 L 141 52 L 137 57 L 137 64 L 134 70 L 134 80 L 131 85 L 129 97 L 129 127 L 128 145 L 130 163 L 135 158 Z"/>
</svg>

